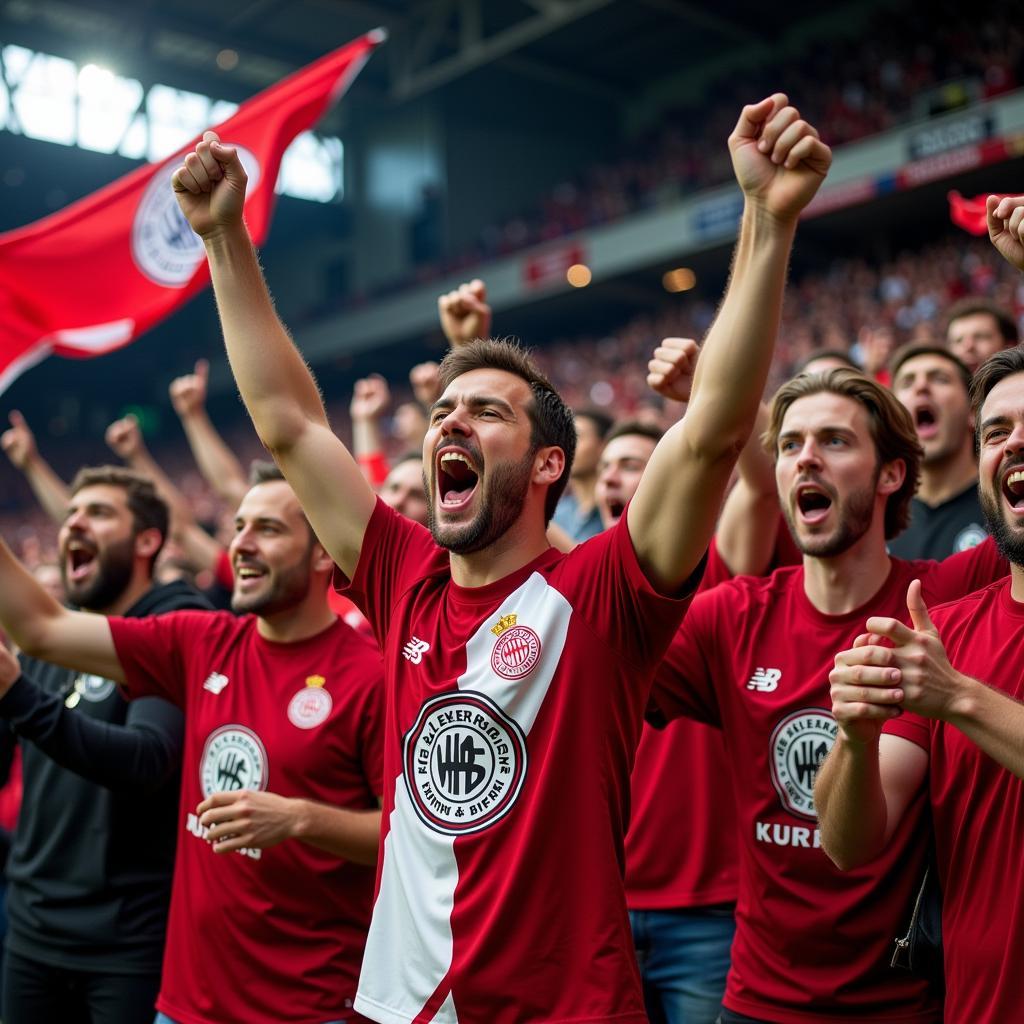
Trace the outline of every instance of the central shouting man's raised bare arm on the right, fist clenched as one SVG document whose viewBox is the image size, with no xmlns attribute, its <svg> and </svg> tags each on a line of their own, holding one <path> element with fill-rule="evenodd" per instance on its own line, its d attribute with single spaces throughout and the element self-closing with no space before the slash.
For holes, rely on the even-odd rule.
<svg viewBox="0 0 1024 1024">
<path fill-rule="evenodd" d="M 743 215 L 725 297 L 702 346 L 686 415 L 654 451 L 627 513 L 651 584 L 675 593 L 715 529 L 768 378 L 797 219 L 831 161 L 782 93 L 744 106 L 729 136 Z M 653 385 L 671 374 L 651 360 Z"/>
</svg>

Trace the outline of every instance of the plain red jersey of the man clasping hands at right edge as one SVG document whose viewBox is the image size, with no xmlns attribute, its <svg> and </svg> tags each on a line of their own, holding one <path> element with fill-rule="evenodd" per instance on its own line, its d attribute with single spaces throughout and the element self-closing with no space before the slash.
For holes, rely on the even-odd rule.
<svg viewBox="0 0 1024 1024">
<path fill-rule="evenodd" d="M 961 672 L 1024 700 L 1024 604 L 1000 581 L 932 621 Z M 1017 1021 L 1024 974 L 1014 950 L 1024 947 L 1024 783 L 958 729 L 906 713 L 887 722 L 929 754 L 939 880 L 946 1020 Z"/>
</svg>

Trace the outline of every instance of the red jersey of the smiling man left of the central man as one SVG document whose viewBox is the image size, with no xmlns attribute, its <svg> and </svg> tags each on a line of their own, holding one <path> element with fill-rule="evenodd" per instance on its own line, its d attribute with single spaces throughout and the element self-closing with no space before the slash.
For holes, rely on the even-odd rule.
<svg viewBox="0 0 1024 1024">
<path fill-rule="evenodd" d="M 351 1017 L 371 867 L 290 840 L 217 854 L 197 806 L 266 790 L 371 809 L 381 792 L 380 654 L 341 622 L 272 643 L 256 617 L 110 618 L 129 696 L 185 714 L 178 833 L 157 1009 L 181 1024 Z"/>
</svg>

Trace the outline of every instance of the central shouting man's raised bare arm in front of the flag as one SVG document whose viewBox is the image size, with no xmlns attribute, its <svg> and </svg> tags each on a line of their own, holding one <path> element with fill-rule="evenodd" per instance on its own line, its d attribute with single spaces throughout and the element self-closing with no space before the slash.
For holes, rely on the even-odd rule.
<svg viewBox="0 0 1024 1024">
<path fill-rule="evenodd" d="M 316 382 L 273 308 L 242 219 L 246 172 L 238 152 L 206 132 L 172 183 L 206 246 L 227 357 L 256 432 L 316 536 L 351 575 L 376 496 L 332 432 Z"/>
</svg>

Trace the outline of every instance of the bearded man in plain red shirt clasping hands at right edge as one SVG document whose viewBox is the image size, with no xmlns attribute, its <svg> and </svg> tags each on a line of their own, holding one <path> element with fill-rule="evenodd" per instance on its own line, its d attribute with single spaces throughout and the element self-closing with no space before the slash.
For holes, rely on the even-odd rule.
<svg viewBox="0 0 1024 1024">
<path fill-rule="evenodd" d="M 993 245 L 1024 270 L 1024 197 L 990 196 L 986 210 Z M 915 580 L 909 626 L 868 606 L 862 633 L 836 656 L 839 735 L 817 793 L 825 850 L 853 872 L 884 861 L 916 805 L 929 807 L 945 1019 L 1011 1021 L 1024 1005 L 1024 976 L 1005 956 L 1024 942 L 1016 870 L 1024 845 L 1024 351 L 982 364 L 971 397 L 981 505 L 1010 577 L 934 614 Z"/>
</svg>

